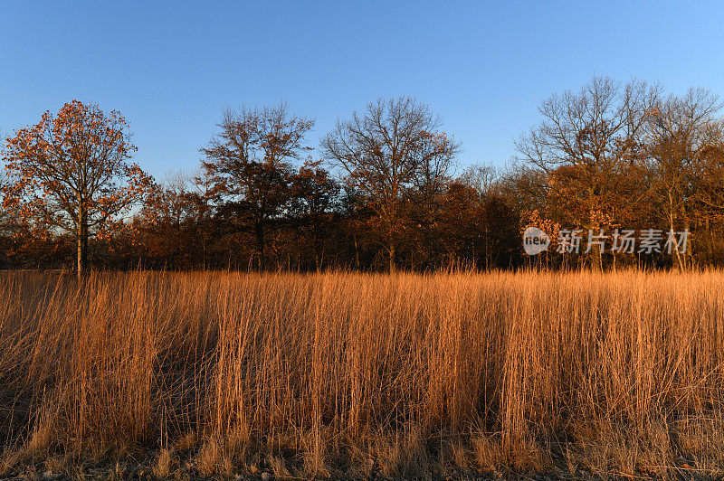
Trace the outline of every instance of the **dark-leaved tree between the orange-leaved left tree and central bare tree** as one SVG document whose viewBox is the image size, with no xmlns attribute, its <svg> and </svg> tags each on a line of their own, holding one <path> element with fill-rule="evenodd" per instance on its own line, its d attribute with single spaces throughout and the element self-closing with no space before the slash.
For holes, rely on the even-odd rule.
<svg viewBox="0 0 724 481">
<path fill-rule="evenodd" d="M 314 120 L 292 116 L 285 103 L 271 108 L 227 109 L 221 132 L 201 149 L 205 170 L 224 197 L 224 212 L 256 241 L 265 269 L 267 235 L 289 201 L 291 161 L 309 149 L 304 136 Z"/>
</svg>

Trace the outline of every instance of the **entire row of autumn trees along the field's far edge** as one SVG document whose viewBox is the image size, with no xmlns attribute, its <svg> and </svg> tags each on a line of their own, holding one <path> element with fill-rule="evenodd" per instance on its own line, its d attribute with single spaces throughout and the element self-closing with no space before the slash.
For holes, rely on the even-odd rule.
<svg viewBox="0 0 724 481">
<path fill-rule="evenodd" d="M 724 123 L 708 90 L 666 94 L 594 78 L 544 100 L 503 168 L 413 98 L 379 99 L 319 146 L 285 104 L 227 110 L 195 173 L 160 183 L 129 164 L 125 120 L 71 102 L 5 140 L 0 264 L 7 268 L 362 269 L 724 261 Z M 548 252 L 522 250 L 527 226 Z M 601 232 L 579 253 L 561 232 Z M 614 252 L 617 230 L 687 231 L 686 251 Z M 586 234 L 584 234 L 584 242 Z M 90 259 L 90 260 L 89 260 Z"/>
</svg>

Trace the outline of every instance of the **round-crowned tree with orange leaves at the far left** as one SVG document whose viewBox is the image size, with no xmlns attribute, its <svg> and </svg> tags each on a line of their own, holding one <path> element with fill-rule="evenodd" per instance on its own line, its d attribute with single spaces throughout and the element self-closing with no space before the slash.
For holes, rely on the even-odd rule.
<svg viewBox="0 0 724 481">
<path fill-rule="evenodd" d="M 129 163 L 126 119 L 79 100 L 5 140 L 9 182 L 3 204 L 34 230 L 66 232 L 77 243 L 79 278 L 88 269 L 90 237 L 109 236 L 148 193 L 153 179 Z"/>
</svg>

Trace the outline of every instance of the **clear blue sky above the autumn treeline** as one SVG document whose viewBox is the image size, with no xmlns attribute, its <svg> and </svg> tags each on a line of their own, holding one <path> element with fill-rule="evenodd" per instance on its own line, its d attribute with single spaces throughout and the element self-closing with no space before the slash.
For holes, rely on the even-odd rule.
<svg viewBox="0 0 724 481">
<path fill-rule="evenodd" d="M 714 2 L 0 0 L 0 130 L 71 99 L 119 109 L 151 174 L 194 169 L 224 107 L 286 100 L 310 144 L 378 96 L 414 95 L 503 165 L 549 94 L 593 74 L 724 94 Z"/>
</svg>

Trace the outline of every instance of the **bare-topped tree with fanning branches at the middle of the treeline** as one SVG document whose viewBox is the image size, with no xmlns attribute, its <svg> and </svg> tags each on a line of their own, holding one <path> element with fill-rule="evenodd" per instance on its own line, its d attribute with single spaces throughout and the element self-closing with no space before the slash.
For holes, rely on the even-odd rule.
<svg viewBox="0 0 724 481">
<path fill-rule="evenodd" d="M 344 168 L 348 184 L 376 213 L 390 272 L 395 272 L 395 251 L 405 229 L 406 194 L 425 164 L 430 179 L 438 182 L 443 165 L 457 148 L 447 137 L 439 137 L 441 124 L 427 105 L 412 97 L 377 99 L 363 114 L 354 112 L 351 119 L 338 121 L 322 140 L 326 156 Z M 435 138 L 439 146 L 433 146 Z"/>
</svg>

